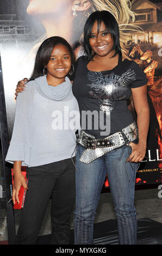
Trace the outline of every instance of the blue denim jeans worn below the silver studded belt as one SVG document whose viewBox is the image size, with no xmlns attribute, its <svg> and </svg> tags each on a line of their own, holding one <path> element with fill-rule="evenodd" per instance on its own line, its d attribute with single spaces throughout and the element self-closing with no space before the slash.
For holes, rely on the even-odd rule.
<svg viewBox="0 0 162 256">
<path fill-rule="evenodd" d="M 74 243 L 77 245 L 93 243 L 96 208 L 107 173 L 117 217 L 119 243 L 121 245 L 136 244 L 137 220 L 134 207 L 134 188 L 138 163 L 126 162 L 132 148 L 129 145 L 124 145 L 122 148 L 109 151 L 89 164 L 79 161 L 84 150 L 82 146 L 78 145 Z"/>
</svg>

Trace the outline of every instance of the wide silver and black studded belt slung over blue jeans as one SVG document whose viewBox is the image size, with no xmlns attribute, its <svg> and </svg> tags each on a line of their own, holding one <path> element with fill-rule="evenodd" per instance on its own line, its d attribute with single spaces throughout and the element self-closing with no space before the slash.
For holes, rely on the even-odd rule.
<svg viewBox="0 0 162 256">
<path fill-rule="evenodd" d="M 116 132 L 103 139 L 96 139 L 94 136 L 88 135 L 88 133 L 81 130 L 77 142 L 85 150 L 80 157 L 80 161 L 90 163 L 110 150 L 119 148 L 128 142 L 134 141 L 136 138 L 138 138 L 138 129 L 135 122 L 122 129 L 121 132 Z"/>
</svg>

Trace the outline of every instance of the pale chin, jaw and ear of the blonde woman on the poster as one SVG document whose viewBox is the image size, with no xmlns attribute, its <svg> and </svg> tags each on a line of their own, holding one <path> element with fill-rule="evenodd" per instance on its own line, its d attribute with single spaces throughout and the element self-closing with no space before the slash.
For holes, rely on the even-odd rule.
<svg viewBox="0 0 162 256">
<path fill-rule="evenodd" d="M 47 38 L 58 35 L 76 44 L 90 9 L 89 0 L 29 0 L 27 14 L 43 25 Z"/>
</svg>

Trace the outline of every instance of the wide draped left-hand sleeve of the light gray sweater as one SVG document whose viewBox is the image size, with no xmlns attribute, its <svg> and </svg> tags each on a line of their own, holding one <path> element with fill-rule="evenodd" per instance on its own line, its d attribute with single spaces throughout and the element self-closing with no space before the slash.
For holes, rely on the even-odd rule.
<svg viewBox="0 0 162 256">
<path fill-rule="evenodd" d="M 31 90 L 32 88 L 32 90 Z M 32 147 L 32 104 L 34 84 L 29 82 L 26 91 L 19 93 L 16 99 L 13 135 L 5 161 L 22 161 L 22 166 L 29 165 Z"/>
</svg>

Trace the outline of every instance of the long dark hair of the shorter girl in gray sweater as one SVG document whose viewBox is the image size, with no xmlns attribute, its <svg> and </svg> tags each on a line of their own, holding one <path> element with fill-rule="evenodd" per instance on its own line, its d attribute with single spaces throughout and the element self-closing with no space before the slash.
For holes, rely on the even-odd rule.
<svg viewBox="0 0 162 256">
<path fill-rule="evenodd" d="M 53 48 L 57 45 L 64 45 L 67 47 L 68 51 L 71 54 L 71 64 L 74 65 L 74 63 L 76 62 L 76 57 L 70 44 L 68 44 L 68 42 L 60 36 L 52 36 L 51 38 L 48 38 L 45 41 L 43 41 L 40 45 L 38 52 L 36 53 L 35 65 L 32 76 L 30 77 L 29 81 L 32 81 L 35 78 L 47 74 L 45 66 L 49 62 Z M 70 78 L 70 80 L 72 80 L 72 71 L 73 68 L 71 68 L 70 72 L 67 74 L 67 77 Z"/>
</svg>

